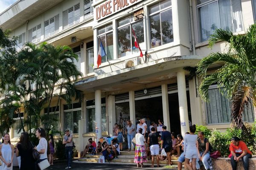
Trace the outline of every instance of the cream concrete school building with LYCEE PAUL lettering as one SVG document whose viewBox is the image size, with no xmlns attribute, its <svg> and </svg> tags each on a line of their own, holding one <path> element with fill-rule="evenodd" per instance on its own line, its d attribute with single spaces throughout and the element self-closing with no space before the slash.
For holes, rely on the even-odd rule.
<svg viewBox="0 0 256 170">
<path fill-rule="evenodd" d="M 188 131 L 190 122 L 230 127 L 230 102 L 214 85 L 211 102 L 203 102 L 200 79 L 186 79 L 183 68 L 225 51 L 221 42 L 207 48 L 209 36 L 216 28 L 244 34 L 254 23 L 253 6 L 256 0 L 20 0 L 0 14 L 0 26 L 19 37 L 17 48 L 47 41 L 79 54 L 84 76 L 76 87 L 84 101 L 61 101 L 55 117 L 59 130 L 71 129 L 82 151 L 88 138 L 112 136 L 114 124 L 125 127 L 128 119 L 136 124 L 145 118 L 148 127 L 162 119 L 176 134 Z M 97 68 L 100 41 L 107 56 Z M 245 122 L 254 121 L 252 107 L 244 115 Z"/>
</svg>

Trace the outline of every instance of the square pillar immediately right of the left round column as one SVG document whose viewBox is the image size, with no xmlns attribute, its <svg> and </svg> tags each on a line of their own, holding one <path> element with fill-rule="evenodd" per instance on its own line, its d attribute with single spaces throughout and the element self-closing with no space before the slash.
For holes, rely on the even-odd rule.
<svg viewBox="0 0 256 170">
<path fill-rule="evenodd" d="M 115 96 L 108 96 L 108 134 L 113 136 L 113 127 L 116 123 L 116 105 Z"/>
</svg>

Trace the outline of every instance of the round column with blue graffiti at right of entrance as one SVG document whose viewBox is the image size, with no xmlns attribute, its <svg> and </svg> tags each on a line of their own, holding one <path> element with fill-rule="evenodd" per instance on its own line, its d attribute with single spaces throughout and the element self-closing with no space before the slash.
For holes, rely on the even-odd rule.
<svg viewBox="0 0 256 170">
<path fill-rule="evenodd" d="M 177 85 L 180 109 L 180 129 L 181 134 L 184 135 L 186 132 L 189 131 L 189 115 L 186 98 L 186 81 L 184 71 L 177 72 Z"/>
</svg>

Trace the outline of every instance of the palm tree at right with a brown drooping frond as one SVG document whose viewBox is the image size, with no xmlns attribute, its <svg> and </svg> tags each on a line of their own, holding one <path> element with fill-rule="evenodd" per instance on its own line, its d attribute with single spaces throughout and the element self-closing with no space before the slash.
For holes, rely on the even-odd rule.
<svg viewBox="0 0 256 170">
<path fill-rule="evenodd" d="M 231 31 L 216 29 L 209 39 L 209 48 L 217 42 L 226 42 L 226 53 L 211 53 L 198 63 L 197 74 L 202 78 L 199 93 L 205 101 L 208 88 L 217 83 L 218 88 L 232 100 L 231 120 L 233 126 L 244 127 L 242 114 L 251 99 L 256 119 L 256 24 L 251 25 L 245 34 L 233 34 Z M 223 63 L 213 74 L 207 75 L 207 69 L 213 64 Z"/>
</svg>

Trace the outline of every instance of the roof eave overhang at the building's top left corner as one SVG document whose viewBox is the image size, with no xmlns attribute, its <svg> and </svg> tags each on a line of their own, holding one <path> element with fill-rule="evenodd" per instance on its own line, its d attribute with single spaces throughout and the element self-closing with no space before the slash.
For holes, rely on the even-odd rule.
<svg viewBox="0 0 256 170">
<path fill-rule="evenodd" d="M 18 0 L 0 14 L 0 27 L 12 29 L 26 23 L 63 0 Z"/>
</svg>

